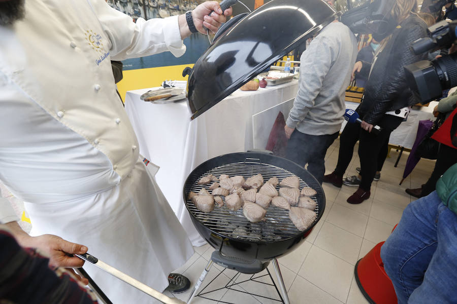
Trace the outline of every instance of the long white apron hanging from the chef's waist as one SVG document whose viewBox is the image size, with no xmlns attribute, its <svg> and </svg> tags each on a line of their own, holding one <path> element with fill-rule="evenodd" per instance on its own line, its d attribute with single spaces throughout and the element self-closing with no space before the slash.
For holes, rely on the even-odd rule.
<svg viewBox="0 0 457 304">
<path fill-rule="evenodd" d="M 55 234 L 84 244 L 95 257 L 163 291 L 168 274 L 192 256 L 193 247 L 141 160 L 129 175 L 117 186 L 82 200 L 25 203 L 31 234 Z M 113 303 L 154 302 L 88 262 L 84 269 Z"/>
</svg>

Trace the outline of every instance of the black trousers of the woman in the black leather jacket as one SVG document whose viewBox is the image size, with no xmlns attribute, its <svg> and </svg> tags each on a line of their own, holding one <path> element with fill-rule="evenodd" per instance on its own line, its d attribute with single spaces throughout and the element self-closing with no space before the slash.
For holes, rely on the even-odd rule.
<svg viewBox="0 0 457 304">
<path fill-rule="evenodd" d="M 361 115 L 362 116 L 362 115 Z M 360 166 L 362 181 L 360 187 L 365 191 L 370 191 L 371 183 L 376 174 L 376 170 L 382 167 L 378 164 L 380 159 L 385 160 L 385 156 L 380 154 L 386 153 L 386 143 L 389 140 L 390 133 L 394 131 L 403 121 L 402 118 L 384 115 L 376 124 L 382 128 L 379 134 L 368 133 L 360 127 L 360 124 L 346 124 L 340 136 L 340 150 L 338 154 L 338 163 L 335 173 L 343 176 L 352 159 L 354 145 L 360 140 L 358 145 L 358 156 L 360 157 Z"/>
</svg>

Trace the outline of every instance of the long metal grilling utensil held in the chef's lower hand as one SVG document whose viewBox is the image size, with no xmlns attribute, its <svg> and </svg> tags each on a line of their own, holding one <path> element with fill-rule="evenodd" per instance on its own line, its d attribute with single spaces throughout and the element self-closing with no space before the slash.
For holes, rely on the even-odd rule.
<svg viewBox="0 0 457 304">
<path fill-rule="evenodd" d="M 135 280 L 134 278 L 124 274 L 123 272 L 120 272 L 119 270 L 115 269 L 114 267 L 108 265 L 107 263 L 97 259 L 93 255 L 90 254 L 75 254 L 77 257 L 88 261 L 92 264 L 94 264 L 96 267 L 106 271 L 110 275 L 115 276 L 116 278 L 124 281 L 125 283 L 132 285 L 133 287 L 137 288 L 138 290 L 143 291 L 146 294 L 149 294 L 153 298 L 161 301 L 162 303 L 166 304 L 185 304 L 185 302 L 181 301 L 178 298 L 171 298 L 166 296 L 165 294 L 158 292 L 157 290 L 147 286 L 146 284 L 141 283 L 138 280 Z"/>
</svg>

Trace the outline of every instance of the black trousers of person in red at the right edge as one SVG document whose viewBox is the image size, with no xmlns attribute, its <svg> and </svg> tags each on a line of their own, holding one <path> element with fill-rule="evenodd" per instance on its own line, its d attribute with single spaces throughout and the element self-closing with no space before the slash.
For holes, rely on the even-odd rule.
<svg viewBox="0 0 457 304">
<path fill-rule="evenodd" d="M 433 169 L 432 175 L 425 185 L 422 186 L 421 196 L 428 196 L 435 191 L 436 182 L 441 175 L 446 172 L 453 164 L 457 163 L 457 149 L 451 148 L 445 144 L 441 144 L 440 150 L 438 151 L 438 157 L 436 159 L 435 168 Z"/>
</svg>

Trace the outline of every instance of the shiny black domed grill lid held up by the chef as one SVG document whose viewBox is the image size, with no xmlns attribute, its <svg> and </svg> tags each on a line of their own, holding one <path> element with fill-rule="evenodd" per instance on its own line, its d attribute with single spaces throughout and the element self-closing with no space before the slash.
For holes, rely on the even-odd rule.
<svg viewBox="0 0 457 304">
<path fill-rule="evenodd" d="M 322 0 L 272 0 L 223 28 L 189 75 L 191 119 L 304 43 L 335 16 Z"/>
</svg>

